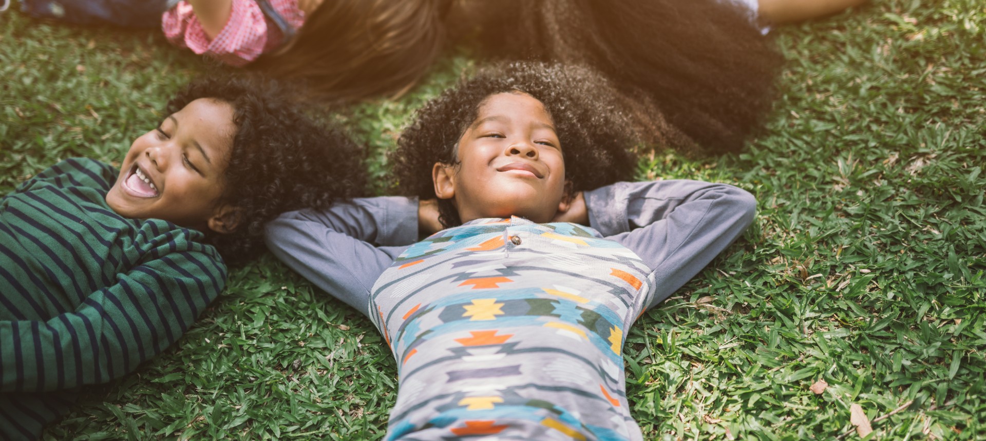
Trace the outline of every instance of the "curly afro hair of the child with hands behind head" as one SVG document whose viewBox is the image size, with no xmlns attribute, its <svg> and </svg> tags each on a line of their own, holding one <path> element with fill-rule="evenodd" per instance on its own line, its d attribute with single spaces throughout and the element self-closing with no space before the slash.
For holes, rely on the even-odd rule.
<svg viewBox="0 0 986 441">
<path fill-rule="evenodd" d="M 551 116 L 564 149 L 565 178 L 574 191 L 627 180 L 636 170 L 638 142 L 669 142 L 679 132 L 656 110 L 630 103 L 598 72 L 541 62 L 497 64 L 480 70 L 415 113 L 391 155 L 397 191 L 435 197 L 432 168 L 458 164 L 456 147 L 491 95 L 525 93 Z M 647 115 L 641 120 L 638 115 Z M 439 200 L 440 220 L 461 224 L 451 200 Z"/>
</svg>

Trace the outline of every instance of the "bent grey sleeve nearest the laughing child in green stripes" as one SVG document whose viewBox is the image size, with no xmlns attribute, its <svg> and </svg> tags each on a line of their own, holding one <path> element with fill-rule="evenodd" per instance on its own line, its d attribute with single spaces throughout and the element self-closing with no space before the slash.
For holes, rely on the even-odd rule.
<svg viewBox="0 0 986 441">
<path fill-rule="evenodd" d="M 274 256 L 369 317 L 374 283 L 417 242 L 418 203 L 399 196 L 369 197 L 324 211 L 292 211 L 267 224 L 265 236 Z"/>
</svg>

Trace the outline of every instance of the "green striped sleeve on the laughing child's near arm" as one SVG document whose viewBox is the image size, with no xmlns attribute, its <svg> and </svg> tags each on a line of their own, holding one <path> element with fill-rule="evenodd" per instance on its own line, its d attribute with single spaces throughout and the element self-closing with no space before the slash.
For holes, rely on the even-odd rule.
<svg viewBox="0 0 986 441">
<path fill-rule="evenodd" d="M 0 321 L 0 394 L 106 383 L 162 352 L 225 286 L 208 251 L 148 260 L 48 321 Z"/>
</svg>

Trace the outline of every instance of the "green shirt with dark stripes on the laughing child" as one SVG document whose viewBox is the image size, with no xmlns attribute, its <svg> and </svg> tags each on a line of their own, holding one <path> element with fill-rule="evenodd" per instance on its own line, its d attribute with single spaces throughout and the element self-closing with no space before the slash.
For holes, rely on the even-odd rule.
<svg viewBox="0 0 986 441">
<path fill-rule="evenodd" d="M 201 232 L 106 205 L 117 171 L 69 159 L 0 199 L 0 439 L 163 351 L 226 283 Z"/>
</svg>

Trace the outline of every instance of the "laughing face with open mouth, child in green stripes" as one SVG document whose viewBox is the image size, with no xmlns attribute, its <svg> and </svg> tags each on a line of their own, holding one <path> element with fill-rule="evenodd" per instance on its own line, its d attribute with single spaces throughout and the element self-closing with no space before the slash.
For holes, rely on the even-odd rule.
<svg viewBox="0 0 986 441">
<path fill-rule="evenodd" d="M 124 217 L 218 230 L 210 221 L 228 209 L 216 202 L 234 133 L 230 105 L 208 99 L 189 103 L 133 141 L 106 203 Z"/>
</svg>

